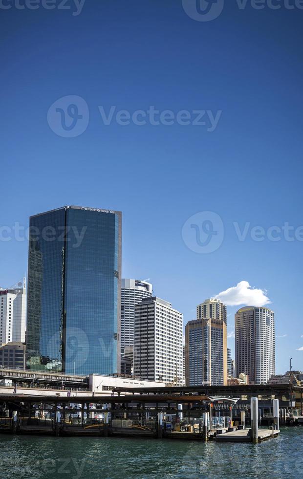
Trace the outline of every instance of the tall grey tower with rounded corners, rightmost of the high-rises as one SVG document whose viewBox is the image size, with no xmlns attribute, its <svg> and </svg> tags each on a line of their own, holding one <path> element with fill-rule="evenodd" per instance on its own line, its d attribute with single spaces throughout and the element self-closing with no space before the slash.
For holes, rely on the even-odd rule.
<svg viewBox="0 0 303 479">
<path fill-rule="evenodd" d="M 246 306 L 235 314 L 236 375 L 250 384 L 266 384 L 275 374 L 275 313 L 266 307 Z"/>
</svg>

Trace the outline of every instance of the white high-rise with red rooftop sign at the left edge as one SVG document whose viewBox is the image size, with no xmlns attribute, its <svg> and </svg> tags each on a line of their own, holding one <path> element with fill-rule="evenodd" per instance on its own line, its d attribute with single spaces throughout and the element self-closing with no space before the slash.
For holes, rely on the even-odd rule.
<svg viewBox="0 0 303 479">
<path fill-rule="evenodd" d="M 9 289 L 0 289 L 0 346 L 8 342 L 25 342 L 25 279 Z"/>
</svg>

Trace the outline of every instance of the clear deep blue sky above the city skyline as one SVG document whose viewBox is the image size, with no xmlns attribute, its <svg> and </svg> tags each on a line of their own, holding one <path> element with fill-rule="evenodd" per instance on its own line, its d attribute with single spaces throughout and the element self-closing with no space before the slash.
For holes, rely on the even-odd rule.
<svg viewBox="0 0 303 479">
<path fill-rule="evenodd" d="M 287 335 L 277 338 L 277 372 L 291 356 L 302 370 L 303 242 L 250 233 L 239 241 L 233 222 L 303 225 L 303 10 L 249 2 L 241 10 L 228 0 L 218 18 L 198 22 L 181 0 L 87 0 L 78 16 L 13 6 L 0 17 L 1 226 L 26 227 L 30 215 L 65 204 L 121 210 L 124 277 L 150 278 L 184 323 L 240 281 L 266 289 L 277 336 Z M 47 123 L 68 95 L 85 99 L 90 115 L 72 138 Z M 105 126 L 99 106 L 222 113 L 208 132 Z M 210 254 L 193 252 L 181 235 L 202 211 L 224 224 Z M 0 248 L 0 284 L 9 286 L 27 268 L 27 242 Z M 230 333 L 236 309 L 228 307 Z"/>
</svg>

